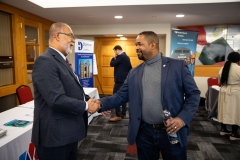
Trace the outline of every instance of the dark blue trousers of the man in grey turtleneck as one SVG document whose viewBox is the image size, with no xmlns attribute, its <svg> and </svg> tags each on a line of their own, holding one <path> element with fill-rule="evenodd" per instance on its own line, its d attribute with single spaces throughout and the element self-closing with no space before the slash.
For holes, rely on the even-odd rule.
<svg viewBox="0 0 240 160">
<path fill-rule="evenodd" d="M 138 131 L 136 145 L 139 160 L 158 160 L 160 152 L 163 160 L 187 160 L 186 147 L 171 144 L 165 129 L 157 130 L 146 123 Z"/>
</svg>

